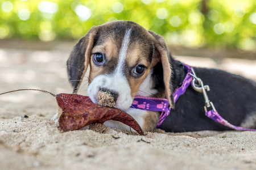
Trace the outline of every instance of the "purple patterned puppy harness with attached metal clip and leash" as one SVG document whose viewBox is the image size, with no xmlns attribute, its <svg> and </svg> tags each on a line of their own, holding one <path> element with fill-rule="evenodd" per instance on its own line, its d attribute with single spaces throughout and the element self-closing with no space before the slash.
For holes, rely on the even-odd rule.
<svg viewBox="0 0 256 170">
<path fill-rule="evenodd" d="M 185 70 L 187 71 L 187 75 L 185 76 L 183 80 L 183 84 L 176 88 L 174 91 L 174 102 L 177 101 L 179 96 L 183 95 L 188 88 L 189 85 L 191 85 L 194 90 L 198 92 L 202 92 L 205 99 L 205 116 L 211 118 L 212 120 L 224 125 L 228 126 L 229 128 L 235 129 L 235 130 L 250 130 L 250 131 L 256 131 L 256 129 L 247 129 L 242 128 L 240 126 L 235 126 L 230 124 L 228 121 L 226 121 L 224 118 L 218 114 L 216 109 L 214 108 L 213 103 L 208 99 L 207 92 L 209 91 L 209 86 L 204 86 L 203 81 L 198 78 L 195 74 L 195 71 L 193 71 L 193 67 L 183 64 L 185 67 Z M 195 84 L 195 81 L 199 82 L 199 84 Z M 162 112 L 159 117 L 158 124 L 156 125 L 156 128 L 159 128 L 159 126 L 162 124 L 164 119 L 170 114 L 171 108 L 168 107 L 169 102 L 167 99 L 159 99 L 154 97 L 145 97 L 145 96 L 135 96 L 133 100 L 133 104 L 131 105 L 131 108 L 135 109 L 142 109 L 146 111 L 157 111 Z M 212 107 L 212 110 L 207 111 L 208 107 Z"/>
</svg>

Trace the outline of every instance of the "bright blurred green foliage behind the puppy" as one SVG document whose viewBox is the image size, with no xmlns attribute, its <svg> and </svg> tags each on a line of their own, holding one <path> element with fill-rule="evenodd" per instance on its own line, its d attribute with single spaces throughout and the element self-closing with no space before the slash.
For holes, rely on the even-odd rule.
<svg viewBox="0 0 256 170">
<path fill-rule="evenodd" d="M 177 45 L 256 49 L 255 0 L 0 0 L 0 39 L 79 39 L 113 20 Z"/>
</svg>

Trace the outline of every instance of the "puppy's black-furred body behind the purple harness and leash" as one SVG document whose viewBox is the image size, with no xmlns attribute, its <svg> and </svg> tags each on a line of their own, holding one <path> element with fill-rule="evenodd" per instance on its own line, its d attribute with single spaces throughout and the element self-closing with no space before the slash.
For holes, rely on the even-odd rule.
<svg viewBox="0 0 256 170">
<path fill-rule="evenodd" d="M 255 82 L 222 70 L 197 67 L 194 69 L 196 75 L 210 87 L 207 92 L 209 100 L 230 124 L 240 126 L 246 119 L 256 118 Z M 172 132 L 231 130 L 205 116 L 203 94 L 196 92 L 191 86 L 179 97 L 175 109 L 171 110 L 159 128 Z M 246 128 L 256 128 L 256 122 Z"/>
</svg>

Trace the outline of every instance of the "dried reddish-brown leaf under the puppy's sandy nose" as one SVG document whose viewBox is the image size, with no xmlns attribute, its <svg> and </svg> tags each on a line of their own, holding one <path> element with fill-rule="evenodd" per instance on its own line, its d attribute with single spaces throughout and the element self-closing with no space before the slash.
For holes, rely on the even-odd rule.
<svg viewBox="0 0 256 170">
<path fill-rule="evenodd" d="M 63 131 L 78 130 L 92 123 L 103 124 L 105 121 L 114 120 L 144 135 L 141 126 L 129 114 L 117 108 L 94 104 L 88 96 L 59 94 L 56 95 L 56 100 L 61 112 L 59 125 Z"/>
</svg>

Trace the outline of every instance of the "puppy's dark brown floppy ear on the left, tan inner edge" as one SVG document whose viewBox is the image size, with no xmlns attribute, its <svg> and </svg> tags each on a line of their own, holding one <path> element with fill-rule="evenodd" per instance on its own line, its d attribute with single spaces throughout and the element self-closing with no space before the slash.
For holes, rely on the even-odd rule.
<svg viewBox="0 0 256 170">
<path fill-rule="evenodd" d="M 73 88 L 73 94 L 77 93 L 82 78 L 84 78 L 86 70 L 88 69 L 93 42 L 97 32 L 98 27 L 92 27 L 89 32 L 77 42 L 68 58 L 68 80 Z"/>
</svg>

